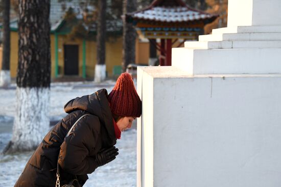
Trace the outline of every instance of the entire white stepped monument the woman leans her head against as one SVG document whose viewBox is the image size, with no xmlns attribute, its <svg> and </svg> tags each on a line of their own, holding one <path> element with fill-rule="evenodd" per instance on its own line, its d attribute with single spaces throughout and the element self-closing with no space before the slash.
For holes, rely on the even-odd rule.
<svg viewBox="0 0 281 187">
<path fill-rule="evenodd" d="M 281 184 L 281 53 L 272 43 L 280 41 L 272 37 L 280 35 L 281 1 L 228 2 L 231 34 L 173 49 L 172 67 L 137 70 L 138 187 Z M 210 49 L 209 41 L 231 47 Z"/>
</svg>

